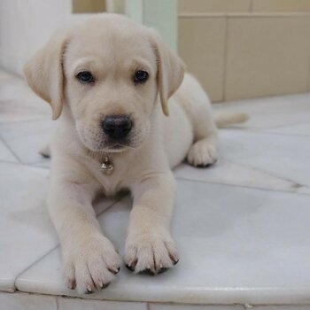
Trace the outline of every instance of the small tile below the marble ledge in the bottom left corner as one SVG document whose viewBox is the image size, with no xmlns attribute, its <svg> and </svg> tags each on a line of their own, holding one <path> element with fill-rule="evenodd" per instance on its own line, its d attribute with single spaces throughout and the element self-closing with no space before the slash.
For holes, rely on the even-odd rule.
<svg viewBox="0 0 310 310">
<path fill-rule="evenodd" d="M 0 292 L 0 310 L 58 310 L 56 297 Z"/>
</svg>

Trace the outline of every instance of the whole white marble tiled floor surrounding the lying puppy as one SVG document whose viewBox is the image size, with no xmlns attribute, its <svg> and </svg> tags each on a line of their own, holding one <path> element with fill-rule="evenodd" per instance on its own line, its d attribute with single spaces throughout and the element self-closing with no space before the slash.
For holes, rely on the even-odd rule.
<svg viewBox="0 0 310 310">
<path fill-rule="evenodd" d="M 310 94 L 214 106 L 222 110 L 251 120 L 221 129 L 214 167 L 175 169 L 177 267 L 156 277 L 123 267 L 104 291 L 61 298 L 77 295 L 63 283 L 44 201 L 49 161 L 37 151 L 53 128 L 49 106 L 0 72 L 0 310 L 310 309 L 297 306 L 310 305 Z M 120 255 L 130 204 L 125 197 L 96 206 Z"/>
</svg>

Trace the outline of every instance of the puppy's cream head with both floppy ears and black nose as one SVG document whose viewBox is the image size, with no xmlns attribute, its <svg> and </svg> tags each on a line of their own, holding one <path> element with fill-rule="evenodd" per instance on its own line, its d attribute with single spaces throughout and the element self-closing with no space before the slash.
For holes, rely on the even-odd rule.
<svg viewBox="0 0 310 310">
<path fill-rule="evenodd" d="M 24 72 L 54 120 L 67 105 L 87 148 L 123 151 L 145 140 L 158 97 L 168 115 L 184 66 L 155 31 L 102 14 L 53 35 Z"/>
</svg>

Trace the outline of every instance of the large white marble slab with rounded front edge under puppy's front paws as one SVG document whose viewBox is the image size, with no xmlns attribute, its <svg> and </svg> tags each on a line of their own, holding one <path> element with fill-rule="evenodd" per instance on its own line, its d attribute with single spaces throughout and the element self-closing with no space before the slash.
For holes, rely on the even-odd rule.
<svg viewBox="0 0 310 310">
<path fill-rule="evenodd" d="M 309 198 L 285 192 L 178 181 L 173 235 L 181 260 L 150 277 L 122 267 L 86 298 L 195 304 L 295 304 L 310 294 Z M 128 198 L 99 221 L 123 255 Z M 58 250 L 19 276 L 20 291 L 72 295 Z"/>
</svg>

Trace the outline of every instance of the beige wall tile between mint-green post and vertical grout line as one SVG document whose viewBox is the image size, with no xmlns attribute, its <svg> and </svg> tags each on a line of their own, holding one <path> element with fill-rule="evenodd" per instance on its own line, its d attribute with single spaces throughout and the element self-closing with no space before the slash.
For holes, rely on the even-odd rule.
<svg viewBox="0 0 310 310">
<path fill-rule="evenodd" d="M 179 55 L 196 75 L 213 101 L 222 101 L 226 20 L 216 18 L 179 19 Z"/>
</svg>

